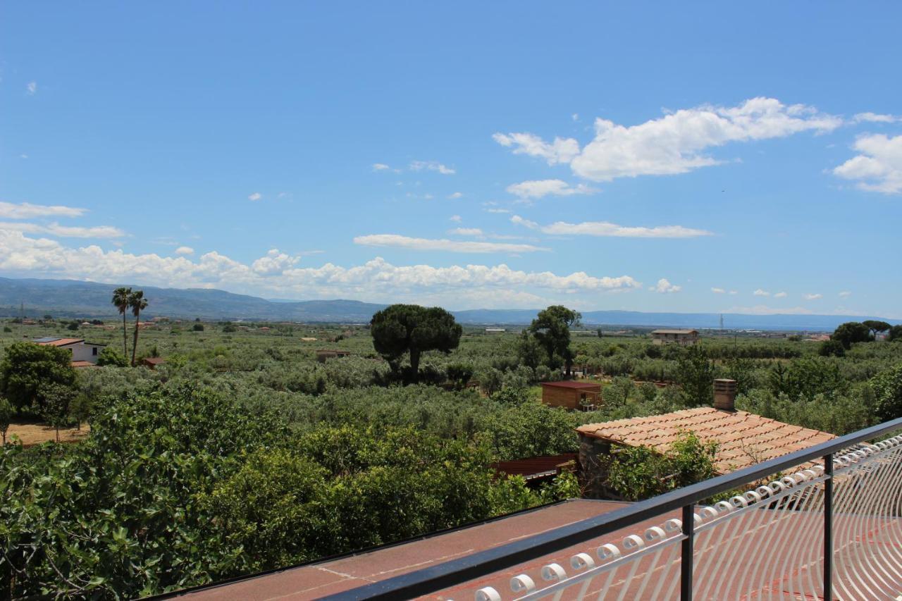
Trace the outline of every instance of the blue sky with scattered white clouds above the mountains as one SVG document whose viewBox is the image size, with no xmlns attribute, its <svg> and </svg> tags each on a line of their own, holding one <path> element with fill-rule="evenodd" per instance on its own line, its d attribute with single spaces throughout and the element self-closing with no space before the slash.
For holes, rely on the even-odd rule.
<svg viewBox="0 0 902 601">
<path fill-rule="evenodd" d="M 900 318 L 900 17 L 5 3 L 0 274 Z"/>
</svg>

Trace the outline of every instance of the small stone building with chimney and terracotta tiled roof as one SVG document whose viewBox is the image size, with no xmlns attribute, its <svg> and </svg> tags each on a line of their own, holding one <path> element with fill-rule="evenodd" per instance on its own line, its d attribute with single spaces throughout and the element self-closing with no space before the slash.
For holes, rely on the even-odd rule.
<svg viewBox="0 0 902 601">
<path fill-rule="evenodd" d="M 617 498 L 609 489 L 604 458 L 618 447 L 649 447 L 664 453 L 685 432 L 717 443 L 714 470 L 726 474 L 768 459 L 813 447 L 836 437 L 735 410 L 736 383 L 714 381 L 714 406 L 696 407 L 629 420 L 589 423 L 579 434 L 580 484 L 592 498 Z"/>
</svg>

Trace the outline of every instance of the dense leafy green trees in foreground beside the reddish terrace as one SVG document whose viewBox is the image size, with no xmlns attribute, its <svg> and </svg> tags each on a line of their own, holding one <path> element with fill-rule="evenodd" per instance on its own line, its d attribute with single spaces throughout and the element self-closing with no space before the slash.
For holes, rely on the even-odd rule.
<svg viewBox="0 0 902 601">
<path fill-rule="evenodd" d="M 573 495 L 496 480 L 490 452 L 412 428 L 292 434 L 225 395 L 145 388 L 77 446 L 0 454 L 3 596 L 135 597 Z"/>
</svg>

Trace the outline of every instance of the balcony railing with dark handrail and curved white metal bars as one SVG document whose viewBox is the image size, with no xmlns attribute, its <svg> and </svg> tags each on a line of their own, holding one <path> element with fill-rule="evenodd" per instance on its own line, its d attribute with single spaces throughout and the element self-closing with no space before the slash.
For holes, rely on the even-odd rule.
<svg viewBox="0 0 902 601">
<path fill-rule="evenodd" d="M 888 421 L 328 598 L 902 599 L 902 436 L 886 438 L 899 430 Z"/>
</svg>

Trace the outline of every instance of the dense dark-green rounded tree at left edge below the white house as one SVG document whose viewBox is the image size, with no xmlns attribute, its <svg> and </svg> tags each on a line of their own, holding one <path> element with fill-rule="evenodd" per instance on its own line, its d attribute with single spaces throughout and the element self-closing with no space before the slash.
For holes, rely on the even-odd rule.
<svg viewBox="0 0 902 601">
<path fill-rule="evenodd" d="M 17 409 L 44 411 L 51 384 L 72 387 L 76 374 L 65 348 L 15 342 L 0 361 L 0 394 Z"/>
</svg>

